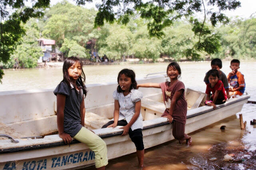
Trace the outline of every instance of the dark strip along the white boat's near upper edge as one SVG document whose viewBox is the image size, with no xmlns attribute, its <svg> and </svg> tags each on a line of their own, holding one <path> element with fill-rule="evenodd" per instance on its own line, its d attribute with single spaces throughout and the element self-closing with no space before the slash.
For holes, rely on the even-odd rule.
<svg viewBox="0 0 256 170">
<path fill-rule="evenodd" d="M 228 105 L 232 105 L 234 103 L 238 103 L 240 101 L 244 101 L 244 100 L 247 100 L 250 98 L 250 95 L 246 95 L 240 99 L 237 99 L 235 101 L 231 101 L 227 104 L 222 104 L 222 105 L 219 105 L 218 107 L 216 107 L 216 109 L 208 109 L 206 111 L 201 111 L 199 113 L 195 113 L 193 115 L 189 115 L 187 116 L 187 119 L 190 119 L 192 117 L 196 117 L 196 116 L 199 116 L 199 115 L 203 115 L 203 114 L 206 114 L 208 112 L 211 112 L 213 110 L 217 110 L 217 109 L 221 109 L 222 107 L 226 107 Z M 164 122 L 164 123 L 158 123 L 158 124 L 155 124 L 155 125 L 150 125 L 150 126 L 147 126 L 147 127 L 144 127 L 142 130 L 147 130 L 147 129 L 150 129 L 150 128 L 155 128 L 155 127 L 160 127 L 160 126 L 164 126 L 164 125 L 168 125 L 170 123 L 168 122 Z M 110 138 L 110 137 L 113 137 L 113 136 L 118 136 L 118 135 L 121 135 L 123 132 L 115 132 L 115 133 L 111 133 L 111 134 L 103 134 L 103 135 L 99 135 L 100 138 Z M 80 143 L 78 140 L 72 140 L 70 144 L 77 144 L 77 143 Z M 48 144 L 40 144 L 40 145 L 32 145 L 32 146 L 25 146 L 25 147 L 18 147 L 18 148 L 7 148 L 7 149 L 1 149 L 0 150 L 0 154 L 7 154 L 7 153 L 13 153 L 13 152 L 23 152 L 23 151 L 28 151 L 28 150 L 37 150 L 37 149 L 44 149 L 44 148 L 52 148 L 52 147 L 57 147 L 57 146 L 65 146 L 66 144 L 62 141 L 62 142 L 54 142 L 54 143 L 48 143 Z"/>
</svg>

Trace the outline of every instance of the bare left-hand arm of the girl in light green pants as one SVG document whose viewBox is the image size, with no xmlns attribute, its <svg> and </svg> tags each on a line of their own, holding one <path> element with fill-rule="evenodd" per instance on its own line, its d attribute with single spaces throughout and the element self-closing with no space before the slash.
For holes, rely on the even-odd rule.
<svg viewBox="0 0 256 170">
<path fill-rule="evenodd" d="M 59 130 L 59 136 L 64 140 L 65 144 L 70 144 L 72 138 L 69 134 L 64 133 L 64 107 L 66 96 L 57 94 L 57 125 Z"/>
</svg>

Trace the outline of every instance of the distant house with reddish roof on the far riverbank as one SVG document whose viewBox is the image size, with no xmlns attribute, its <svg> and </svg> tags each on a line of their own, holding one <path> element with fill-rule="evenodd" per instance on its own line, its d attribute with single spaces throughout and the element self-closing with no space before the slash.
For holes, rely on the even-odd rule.
<svg viewBox="0 0 256 170">
<path fill-rule="evenodd" d="M 51 61 L 52 59 L 62 58 L 62 54 L 55 48 L 55 40 L 49 40 L 45 38 L 40 38 L 37 40 L 38 45 L 42 48 L 44 56 L 42 56 L 43 61 Z"/>
</svg>

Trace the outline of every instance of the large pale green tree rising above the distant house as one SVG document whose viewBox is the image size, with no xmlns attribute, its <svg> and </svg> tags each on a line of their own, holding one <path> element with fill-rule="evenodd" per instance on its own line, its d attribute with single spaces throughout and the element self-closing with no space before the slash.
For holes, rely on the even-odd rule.
<svg viewBox="0 0 256 170">
<path fill-rule="evenodd" d="M 86 42 L 92 38 L 98 39 L 100 30 L 94 29 L 96 11 L 75 6 L 62 1 L 46 11 L 44 31 L 45 37 L 56 40 L 59 47 L 65 38 L 76 41 L 86 47 Z"/>
</svg>

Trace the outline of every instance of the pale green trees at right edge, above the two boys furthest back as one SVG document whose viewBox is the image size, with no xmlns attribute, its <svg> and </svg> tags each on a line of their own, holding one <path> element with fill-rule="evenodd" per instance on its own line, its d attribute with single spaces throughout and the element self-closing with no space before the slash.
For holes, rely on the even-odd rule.
<svg viewBox="0 0 256 170">
<path fill-rule="evenodd" d="M 235 18 L 226 26 L 216 29 L 221 35 L 221 49 L 212 57 L 247 59 L 256 58 L 256 18 Z"/>
</svg>

